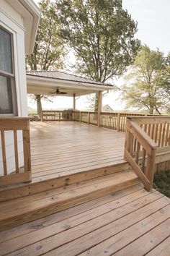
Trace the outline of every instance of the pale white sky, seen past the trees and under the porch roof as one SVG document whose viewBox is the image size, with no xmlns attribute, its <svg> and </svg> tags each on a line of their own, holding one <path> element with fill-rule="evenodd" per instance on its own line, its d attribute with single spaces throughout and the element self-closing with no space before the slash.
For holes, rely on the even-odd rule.
<svg viewBox="0 0 170 256">
<path fill-rule="evenodd" d="M 37 3 L 38 0 L 35 0 Z M 135 38 L 141 43 L 147 44 L 152 50 L 158 48 L 164 54 L 170 52 L 170 0 L 122 0 L 122 6 L 128 10 L 133 20 L 138 22 L 138 32 Z M 116 85 L 121 85 L 122 79 L 115 80 Z M 102 105 L 108 104 L 115 111 L 125 108 L 125 103 L 119 100 L 117 93 L 109 92 L 104 95 Z M 29 106 L 36 108 L 35 104 L 29 101 Z M 57 97 L 53 103 L 42 102 L 42 108 L 58 109 L 72 108 L 73 99 L 70 97 Z M 76 100 L 76 108 L 85 110 L 89 108 L 86 97 Z"/>
</svg>

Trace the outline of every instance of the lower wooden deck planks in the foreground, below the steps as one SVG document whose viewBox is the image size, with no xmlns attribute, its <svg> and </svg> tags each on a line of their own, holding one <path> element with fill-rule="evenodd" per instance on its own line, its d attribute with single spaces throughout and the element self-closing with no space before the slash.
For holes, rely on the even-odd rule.
<svg viewBox="0 0 170 256">
<path fill-rule="evenodd" d="M 138 184 L 0 232 L 0 255 L 170 255 L 170 200 Z"/>
</svg>

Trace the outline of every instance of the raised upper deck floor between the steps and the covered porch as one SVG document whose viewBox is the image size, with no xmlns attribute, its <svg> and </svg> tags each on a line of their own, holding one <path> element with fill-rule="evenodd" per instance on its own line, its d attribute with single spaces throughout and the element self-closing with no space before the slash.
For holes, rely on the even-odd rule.
<svg viewBox="0 0 170 256">
<path fill-rule="evenodd" d="M 123 163 L 125 134 L 76 121 L 31 122 L 32 182 Z"/>
</svg>

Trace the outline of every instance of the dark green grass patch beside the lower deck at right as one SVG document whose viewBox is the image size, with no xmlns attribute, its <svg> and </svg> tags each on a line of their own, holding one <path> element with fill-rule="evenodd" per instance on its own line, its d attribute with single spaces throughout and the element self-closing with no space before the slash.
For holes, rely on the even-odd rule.
<svg viewBox="0 0 170 256">
<path fill-rule="evenodd" d="M 170 171 L 155 174 L 154 189 L 170 198 Z"/>
</svg>

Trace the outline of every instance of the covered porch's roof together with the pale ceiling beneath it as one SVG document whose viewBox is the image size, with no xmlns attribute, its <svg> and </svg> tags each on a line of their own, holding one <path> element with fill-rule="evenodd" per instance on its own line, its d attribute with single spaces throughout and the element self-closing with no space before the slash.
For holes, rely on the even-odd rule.
<svg viewBox="0 0 170 256">
<path fill-rule="evenodd" d="M 113 89 L 112 85 L 63 72 L 27 72 L 27 93 L 48 95 L 56 88 L 67 93 L 61 96 L 80 96 Z"/>
</svg>

